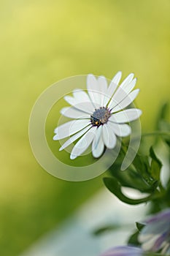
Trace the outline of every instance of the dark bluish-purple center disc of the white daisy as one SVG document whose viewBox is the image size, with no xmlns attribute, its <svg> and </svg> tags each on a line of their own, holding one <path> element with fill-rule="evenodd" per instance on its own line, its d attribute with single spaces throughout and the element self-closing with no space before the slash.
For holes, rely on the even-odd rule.
<svg viewBox="0 0 170 256">
<path fill-rule="evenodd" d="M 106 124 L 111 116 L 111 112 L 108 108 L 98 108 L 90 116 L 90 121 L 93 127 L 99 127 L 100 125 Z"/>
</svg>

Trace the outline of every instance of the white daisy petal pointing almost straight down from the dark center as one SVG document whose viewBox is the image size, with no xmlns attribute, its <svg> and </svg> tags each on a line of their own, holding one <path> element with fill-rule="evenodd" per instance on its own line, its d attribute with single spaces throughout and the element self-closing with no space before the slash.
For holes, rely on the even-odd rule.
<svg viewBox="0 0 170 256">
<path fill-rule="evenodd" d="M 101 132 L 102 126 L 98 127 L 98 129 L 96 130 L 96 135 L 92 143 L 92 154 L 93 157 L 96 158 L 101 157 L 101 154 L 104 151 L 104 142 L 102 140 Z"/>
</svg>

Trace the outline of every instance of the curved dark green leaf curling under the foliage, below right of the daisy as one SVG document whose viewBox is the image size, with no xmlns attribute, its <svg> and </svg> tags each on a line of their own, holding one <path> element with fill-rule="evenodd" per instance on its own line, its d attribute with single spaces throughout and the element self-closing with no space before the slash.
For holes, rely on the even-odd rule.
<svg viewBox="0 0 170 256">
<path fill-rule="evenodd" d="M 116 178 L 105 177 L 103 180 L 107 189 L 109 189 L 110 192 L 112 192 L 124 203 L 128 203 L 130 205 L 137 205 L 139 203 L 145 203 L 148 200 L 152 199 L 152 195 L 141 199 L 131 199 L 123 194 L 123 192 L 121 191 L 121 185 Z"/>
</svg>

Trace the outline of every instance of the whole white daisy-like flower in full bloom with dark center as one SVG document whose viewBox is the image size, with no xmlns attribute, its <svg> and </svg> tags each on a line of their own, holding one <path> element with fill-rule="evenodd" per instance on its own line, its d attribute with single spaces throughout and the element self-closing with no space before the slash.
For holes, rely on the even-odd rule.
<svg viewBox="0 0 170 256">
<path fill-rule="evenodd" d="M 103 76 L 87 77 L 87 91 L 75 89 L 73 97 L 64 99 L 71 107 L 63 108 L 63 116 L 74 120 L 55 128 L 53 140 L 70 137 L 61 146 L 60 151 L 79 139 L 74 145 L 70 159 L 80 156 L 92 143 L 93 157 L 101 157 L 104 146 L 115 148 L 117 136 L 126 137 L 131 134 L 128 122 L 134 121 L 142 114 L 136 108 L 125 109 L 134 101 L 139 89 L 134 89 L 136 78 L 134 74 L 128 75 L 118 86 L 122 72 L 117 72 L 109 86 Z M 134 78 L 134 79 L 133 79 Z"/>
</svg>

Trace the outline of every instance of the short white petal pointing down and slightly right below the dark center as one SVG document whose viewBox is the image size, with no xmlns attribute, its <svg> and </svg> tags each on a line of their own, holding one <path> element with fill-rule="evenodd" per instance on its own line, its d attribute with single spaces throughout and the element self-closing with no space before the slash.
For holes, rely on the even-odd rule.
<svg viewBox="0 0 170 256">
<path fill-rule="evenodd" d="M 107 146 L 107 148 L 115 148 L 117 138 L 109 122 L 107 124 L 104 124 L 102 132 L 104 144 Z"/>
</svg>

